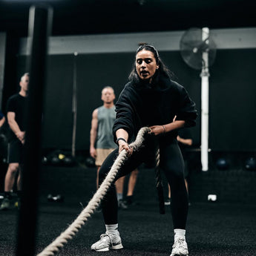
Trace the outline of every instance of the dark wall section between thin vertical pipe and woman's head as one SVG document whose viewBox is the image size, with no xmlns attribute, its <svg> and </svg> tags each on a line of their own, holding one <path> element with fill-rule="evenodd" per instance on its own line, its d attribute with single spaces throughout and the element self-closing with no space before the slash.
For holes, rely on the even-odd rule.
<svg viewBox="0 0 256 256">
<path fill-rule="evenodd" d="M 114 88 L 116 100 L 127 82 L 131 53 L 88 54 L 77 58 L 78 111 L 76 148 L 89 149 L 91 114 L 102 105 L 102 88 Z"/>
</svg>

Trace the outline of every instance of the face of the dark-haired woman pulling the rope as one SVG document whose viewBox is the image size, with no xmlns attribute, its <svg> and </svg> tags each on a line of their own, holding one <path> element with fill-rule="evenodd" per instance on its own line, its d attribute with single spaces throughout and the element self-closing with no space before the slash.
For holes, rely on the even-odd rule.
<svg viewBox="0 0 256 256">
<path fill-rule="evenodd" d="M 136 56 L 136 70 L 140 79 L 149 80 L 151 82 L 152 76 L 159 68 L 157 65 L 154 53 L 150 50 L 140 50 Z"/>
</svg>

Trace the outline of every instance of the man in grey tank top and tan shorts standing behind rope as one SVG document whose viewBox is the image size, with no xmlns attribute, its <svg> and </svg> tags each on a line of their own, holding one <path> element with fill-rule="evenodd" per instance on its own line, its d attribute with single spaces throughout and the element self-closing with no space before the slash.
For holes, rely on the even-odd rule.
<svg viewBox="0 0 256 256">
<path fill-rule="evenodd" d="M 103 105 L 96 108 L 92 114 L 91 132 L 90 132 L 90 154 L 95 159 L 97 168 L 96 188 L 99 187 L 99 168 L 105 161 L 108 154 L 117 148 L 114 143 L 112 127 L 116 119 L 116 111 L 114 105 L 115 99 L 114 89 L 111 86 L 106 86 L 102 89 Z M 128 183 L 128 196 L 132 196 L 134 186 L 137 180 L 138 170 L 135 169 L 130 176 Z M 119 208 L 127 209 L 125 201 L 122 200 L 122 191 L 125 177 L 119 178 L 116 181 L 116 194 L 119 202 Z"/>
</svg>

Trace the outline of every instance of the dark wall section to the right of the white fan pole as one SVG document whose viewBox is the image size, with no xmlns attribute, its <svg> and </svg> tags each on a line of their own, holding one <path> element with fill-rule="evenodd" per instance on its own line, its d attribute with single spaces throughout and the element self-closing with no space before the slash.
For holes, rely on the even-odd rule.
<svg viewBox="0 0 256 256">
<path fill-rule="evenodd" d="M 211 68 L 209 141 L 214 150 L 256 149 L 256 49 L 219 50 Z"/>
</svg>

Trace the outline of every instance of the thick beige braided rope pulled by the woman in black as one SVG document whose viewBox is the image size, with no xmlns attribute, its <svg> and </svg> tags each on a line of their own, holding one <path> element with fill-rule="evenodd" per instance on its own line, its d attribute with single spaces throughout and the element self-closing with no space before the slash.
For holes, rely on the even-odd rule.
<svg viewBox="0 0 256 256">
<path fill-rule="evenodd" d="M 132 148 L 134 148 L 134 151 L 140 149 L 140 147 L 143 144 L 143 141 L 145 140 L 145 134 L 148 134 L 149 131 L 150 128 L 148 127 L 143 127 L 140 129 L 139 133 L 137 134 L 136 140 L 130 145 Z M 93 214 L 93 212 L 99 206 L 99 203 L 107 193 L 108 188 L 113 183 L 116 174 L 119 171 L 119 168 L 121 167 L 122 163 L 125 162 L 126 159 L 127 153 L 125 150 L 123 150 L 114 161 L 114 164 L 111 167 L 111 171 L 108 172 L 108 175 L 105 177 L 105 180 L 102 182 L 102 185 L 99 187 L 99 189 L 93 195 L 92 199 L 88 203 L 88 206 L 86 206 L 85 209 L 82 210 L 82 212 L 79 214 L 76 220 L 73 221 L 73 223 L 68 227 L 68 229 L 65 230 L 65 232 L 62 232 L 62 234 L 60 234 L 59 237 L 56 238 L 56 240 L 50 243 L 50 245 L 47 246 L 37 256 L 56 255 L 56 253 L 59 252 L 59 249 L 61 249 L 65 245 L 65 243 L 68 243 L 68 240 L 71 240 L 77 232 L 79 232 L 79 229 L 82 228 L 82 226 L 86 223 L 88 218 L 91 217 L 91 214 Z"/>
</svg>

